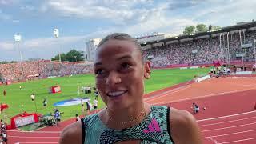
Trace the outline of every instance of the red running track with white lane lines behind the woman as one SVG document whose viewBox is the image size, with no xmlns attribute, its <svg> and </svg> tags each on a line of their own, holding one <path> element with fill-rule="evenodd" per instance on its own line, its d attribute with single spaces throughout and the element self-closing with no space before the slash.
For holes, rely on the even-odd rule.
<svg viewBox="0 0 256 144">
<path fill-rule="evenodd" d="M 162 94 L 161 94 L 162 93 Z M 256 78 L 212 78 L 148 94 L 146 102 L 192 111 L 192 102 L 201 110 L 195 114 L 206 144 L 256 143 Z M 206 106 L 206 110 L 202 107 Z M 58 143 L 60 131 L 74 118 L 34 132 L 8 130 L 8 143 Z"/>
</svg>

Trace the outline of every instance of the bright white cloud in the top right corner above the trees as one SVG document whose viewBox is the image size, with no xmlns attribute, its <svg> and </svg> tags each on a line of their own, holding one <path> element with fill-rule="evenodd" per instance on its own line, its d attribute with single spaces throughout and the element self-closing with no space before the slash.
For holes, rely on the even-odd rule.
<svg viewBox="0 0 256 144">
<path fill-rule="evenodd" d="M 207 8 L 194 11 L 194 19 L 202 19 L 202 23 L 218 24 L 220 26 L 235 25 L 236 22 L 250 21 L 256 18 L 256 1 L 232 0 L 232 1 L 211 1 Z"/>
</svg>

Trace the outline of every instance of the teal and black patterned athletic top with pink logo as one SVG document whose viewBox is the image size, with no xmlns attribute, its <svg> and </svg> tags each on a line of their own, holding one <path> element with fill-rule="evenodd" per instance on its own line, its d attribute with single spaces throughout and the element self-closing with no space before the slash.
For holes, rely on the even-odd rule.
<svg viewBox="0 0 256 144">
<path fill-rule="evenodd" d="M 170 107 L 151 106 L 150 113 L 138 125 L 123 130 L 113 130 L 98 117 L 92 114 L 82 119 L 83 143 L 114 144 L 131 139 L 146 143 L 174 144 L 170 136 Z"/>
</svg>

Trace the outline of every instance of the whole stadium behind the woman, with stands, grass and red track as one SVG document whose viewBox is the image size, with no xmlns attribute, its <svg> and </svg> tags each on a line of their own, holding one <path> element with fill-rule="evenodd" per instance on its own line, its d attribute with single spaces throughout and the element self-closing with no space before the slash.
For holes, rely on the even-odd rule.
<svg viewBox="0 0 256 144">
<path fill-rule="evenodd" d="M 154 69 L 146 80 L 145 102 L 191 113 L 196 103 L 200 110 L 194 117 L 206 144 L 255 143 L 255 39 L 256 22 L 170 38 L 138 38 Z M 1 64 L 0 118 L 6 122 L 8 143 L 58 143 L 75 114 L 82 118 L 104 108 L 100 97 L 97 109 L 81 106 L 95 98 L 93 73 L 92 62 Z M 73 103 L 57 105 L 66 101 Z M 61 122 L 48 126 L 42 119 L 54 109 L 61 112 Z"/>
</svg>

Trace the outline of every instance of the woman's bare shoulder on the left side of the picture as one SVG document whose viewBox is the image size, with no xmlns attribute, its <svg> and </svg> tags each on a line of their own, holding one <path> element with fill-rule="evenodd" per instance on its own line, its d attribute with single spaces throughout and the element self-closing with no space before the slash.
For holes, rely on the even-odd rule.
<svg viewBox="0 0 256 144">
<path fill-rule="evenodd" d="M 82 144 L 82 126 L 81 121 L 74 122 L 62 130 L 59 139 L 60 144 L 81 143 Z"/>
</svg>

